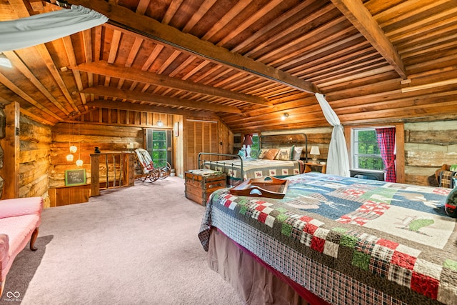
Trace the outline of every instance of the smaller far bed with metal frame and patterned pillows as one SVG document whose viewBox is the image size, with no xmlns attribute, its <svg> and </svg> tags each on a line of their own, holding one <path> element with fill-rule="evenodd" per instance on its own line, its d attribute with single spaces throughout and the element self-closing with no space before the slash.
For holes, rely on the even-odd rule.
<svg viewBox="0 0 457 305">
<path fill-rule="evenodd" d="M 308 161 L 306 134 L 260 136 L 259 140 L 260 149 L 256 154 L 264 156 L 265 159 L 246 159 L 237 154 L 201 152 L 199 168 L 224 172 L 227 175 L 227 184 L 230 186 L 250 178 L 264 176 L 285 178 L 305 172 L 305 164 Z M 276 154 L 274 154 L 275 150 Z"/>
</svg>

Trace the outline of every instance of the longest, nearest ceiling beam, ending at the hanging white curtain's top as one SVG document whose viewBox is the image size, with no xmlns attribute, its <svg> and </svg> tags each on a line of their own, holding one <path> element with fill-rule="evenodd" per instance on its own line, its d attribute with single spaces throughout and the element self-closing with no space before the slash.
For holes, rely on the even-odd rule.
<svg viewBox="0 0 457 305">
<path fill-rule="evenodd" d="M 172 26 L 161 24 L 159 21 L 147 16 L 135 14 L 123 6 L 112 6 L 100 0 L 71 0 L 71 4 L 86 6 L 89 9 L 98 11 L 109 18 L 109 24 L 148 37 L 160 44 L 172 46 L 201 59 L 216 61 L 233 69 L 260 76 L 270 81 L 276 81 L 301 91 L 309 93 L 320 92 L 316 85 L 308 81 L 291 76 L 241 54 L 233 53 L 228 49 L 215 46 L 209 41 L 203 41 L 196 36 L 185 34 Z"/>
</svg>

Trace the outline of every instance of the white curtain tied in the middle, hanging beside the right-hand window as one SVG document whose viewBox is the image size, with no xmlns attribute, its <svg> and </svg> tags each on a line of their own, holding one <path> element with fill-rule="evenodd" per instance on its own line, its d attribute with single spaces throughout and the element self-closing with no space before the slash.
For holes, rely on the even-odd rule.
<svg viewBox="0 0 457 305">
<path fill-rule="evenodd" d="M 343 126 L 335 111 L 331 109 L 326 97 L 322 94 L 316 93 L 316 99 L 321 105 L 323 115 L 331 126 L 333 131 L 331 133 L 330 146 L 328 147 L 327 157 L 327 174 L 338 176 L 349 176 L 349 157 L 348 149 L 346 147 L 346 140 L 344 139 Z"/>
</svg>

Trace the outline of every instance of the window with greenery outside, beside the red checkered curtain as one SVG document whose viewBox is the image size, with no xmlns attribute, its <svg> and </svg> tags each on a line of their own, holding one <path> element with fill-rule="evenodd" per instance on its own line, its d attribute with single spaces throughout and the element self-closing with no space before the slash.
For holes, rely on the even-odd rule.
<svg viewBox="0 0 457 305">
<path fill-rule="evenodd" d="M 384 170 L 381 150 L 374 128 L 352 129 L 352 167 L 353 169 Z"/>
</svg>

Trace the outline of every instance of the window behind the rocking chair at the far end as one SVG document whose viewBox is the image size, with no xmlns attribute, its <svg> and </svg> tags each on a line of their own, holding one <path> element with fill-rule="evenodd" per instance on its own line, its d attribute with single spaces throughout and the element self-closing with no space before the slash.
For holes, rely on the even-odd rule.
<svg viewBox="0 0 457 305">
<path fill-rule="evenodd" d="M 146 150 L 151 154 L 154 167 L 166 166 L 171 160 L 171 130 L 146 129 Z"/>
</svg>

